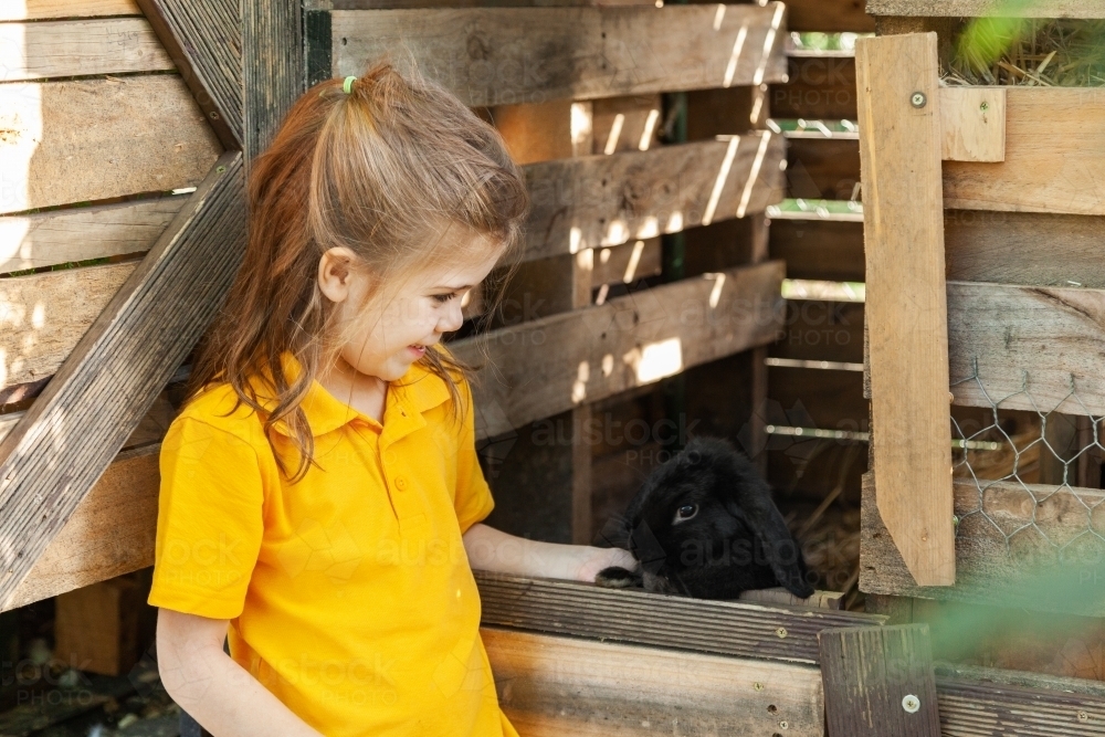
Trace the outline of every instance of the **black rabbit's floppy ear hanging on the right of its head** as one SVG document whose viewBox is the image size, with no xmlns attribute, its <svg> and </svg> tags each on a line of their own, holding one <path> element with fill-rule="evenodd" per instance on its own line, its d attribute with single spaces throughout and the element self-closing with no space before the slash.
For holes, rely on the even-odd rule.
<svg viewBox="0 0 1105 737">
<path fill-rule="evenodd" d="M 748 522 L 753 534 L 764 545 L 767 562 L 779 585 L 796 597 L 812 597 L 813 587 L 806 580 L 802 552 L 771 501 L 771 488 L 758 476 L 743 481 L 745 483 L 738 488 L 729 491 L 726 506 L 732 514 Z"/>
</svg>

